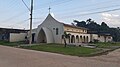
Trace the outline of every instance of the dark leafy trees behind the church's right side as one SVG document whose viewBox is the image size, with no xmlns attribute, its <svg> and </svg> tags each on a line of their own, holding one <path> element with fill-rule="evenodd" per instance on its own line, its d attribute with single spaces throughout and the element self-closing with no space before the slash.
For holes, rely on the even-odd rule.
<svg viewBox="0 0 120 67">
<path fill-rule="evenodd" d="M 89 33 L 96 34 L 110 34 L 113 37 L 115 42 L 120 42 L 120 29 L 118 28 L 110 28 L 105 22 L 102 22 L 101 25 L 97 24 L 92 19 L 87 19 L 86 21 L 77 21 L 74 20 L 76 26 L 85 27 L 89 29 Z M 93 32 L 91 32 L 93 31 Z"/>
</svg>

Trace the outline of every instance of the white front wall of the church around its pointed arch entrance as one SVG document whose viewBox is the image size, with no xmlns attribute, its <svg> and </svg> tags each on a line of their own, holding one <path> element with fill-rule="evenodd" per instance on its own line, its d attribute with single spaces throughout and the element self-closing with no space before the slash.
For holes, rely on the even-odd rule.
<svg viewBox="0 0 120 67">
<path fill-rule="evenodd" d="M 38 36 L 39 36 L 39 32 L 42 28 L 47 28 L 52 32 L 53 43 L 61 43 L 62 42 L 61 36 L 64 33 L 63 24 L 58 22 L 57 20 L 55 20 L 50 14 L 43 21 L 43 23 L 41 25 L 39 25 L 37 28 L 37 33 L 35 35 L 36 42 L 39 42 Z M 56 28 L 59 29 L 58 35 L 56 35 L 56 30 L 55 30 Z M 47 37 L 47 39 L 49 39 L 49 37 Z"/>
</svg>

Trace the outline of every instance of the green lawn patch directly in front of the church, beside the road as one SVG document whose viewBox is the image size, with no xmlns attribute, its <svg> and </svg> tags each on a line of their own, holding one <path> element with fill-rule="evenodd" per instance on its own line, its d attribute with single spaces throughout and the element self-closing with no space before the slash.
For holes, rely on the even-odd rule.
<svg viewBox="0 0 120 67">
<path fill-rule="evenodd" d="M 92 56 L 100 49 L 86 48 L 86 47 L 73 47 L 61 44 L 42 44 L 42 45 L 34 45 L 34 46 L 21 46 L 21 48 L 32 49 L 37 51 L 45 51 L 45 52 L 53 52 L 60 53 L 65 55 L 73 55 L 73 56 Z"/>
</svg>

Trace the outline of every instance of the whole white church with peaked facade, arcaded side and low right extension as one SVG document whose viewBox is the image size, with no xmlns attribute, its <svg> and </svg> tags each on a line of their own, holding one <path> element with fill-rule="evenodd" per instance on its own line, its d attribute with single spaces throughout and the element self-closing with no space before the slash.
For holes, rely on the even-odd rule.
<svg viewBox="0 0 120 67">
<path fill-rule="evenodd" d="M 67 43 L 88 43 L 94 39 L 100 42 L 112 41 L 111 36 L 88 34 L 88 29 L 59 22 L 51 14 L 48 14 L 42 24 L 33 30 L 34 41 L 36 43 L 64 43 L 64 32 L 70 34 L 66 39 Z"/>
</svg>

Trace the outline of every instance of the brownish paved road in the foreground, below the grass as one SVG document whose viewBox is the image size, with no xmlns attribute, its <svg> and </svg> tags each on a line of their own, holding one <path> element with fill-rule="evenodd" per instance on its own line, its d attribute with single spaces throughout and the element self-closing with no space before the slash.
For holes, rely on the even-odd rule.
<svg viewBox="0 0 120 67">
<path fill-rule="evenodd" d="M 0 67 L 120 67 L 120 49 L 103 56 L 76 57 L 0 46 Z"/>
</svg>

